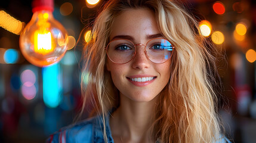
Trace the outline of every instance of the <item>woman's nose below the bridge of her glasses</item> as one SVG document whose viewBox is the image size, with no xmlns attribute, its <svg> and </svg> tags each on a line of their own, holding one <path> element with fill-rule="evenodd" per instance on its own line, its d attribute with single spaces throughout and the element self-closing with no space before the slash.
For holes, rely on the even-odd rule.
<svg viewBox="0 0 256 143">
<path fill-rule="evenodd" d="M 135 45 L 136 46 L 136 54 L 134 59 L 132 60 L 132 67 L 134 69 L 144 69 L 150 67 L 150 61 L 147 58 L 145 45 Z"/>
</svg>

